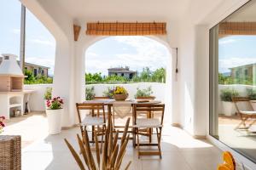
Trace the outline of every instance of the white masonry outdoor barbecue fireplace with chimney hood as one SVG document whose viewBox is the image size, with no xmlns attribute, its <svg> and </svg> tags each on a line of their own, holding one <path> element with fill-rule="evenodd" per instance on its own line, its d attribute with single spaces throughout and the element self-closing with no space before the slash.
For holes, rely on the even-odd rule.
<svg viewBox="0 0 256 170">
<path fill-rule="evenodd" d="M 0 64 L 0 113 L 7 119 L 24 113 L 24 75 L 16 57 L 3 54 Z"/>
</svg>

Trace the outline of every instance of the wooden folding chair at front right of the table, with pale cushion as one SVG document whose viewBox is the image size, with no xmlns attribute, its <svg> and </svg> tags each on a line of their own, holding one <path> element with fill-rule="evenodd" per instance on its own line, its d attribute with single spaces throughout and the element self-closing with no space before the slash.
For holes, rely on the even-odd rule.
<svg viewBox="0 0 256 170">
<path fill-rule="evenodd" d="M 161 149 L 160 149 L 160 140 L 161 140 L 161 133 L 162 133 L 162 127 L 163 127 L 163 120 L 164 120 L 164 113 L 165 113 L 165 105 L 164 104 L 136 104 L 133 106 L 134 108 L 134 120 L 133 120 L 133 127 L 134 127 L 134 139 L 133 143 L 134 146 L 137 146 L 138 149 L 138 158 L 140 156 L 161 156 Z M 148 111 L 150 114 L 150 117 L 141 118 L 138 116 L 137 113 L 141 111 Z M 160 117 L 154 116 L 154 114 L 160 114 Z M 148 128 L 152 129 L 149 131 L 149 134 L 147 135 L 153 135 L 156 134 L 157 137 L 157 143 L 149 142 L 148 144 L 140 143 L 140 135 L 145 135 L 145 133 L 142 133 L 140 129 Z M 154 133 L 155 129 L 155 133 Z M 137 142 L 137 143 L 136 143 Z M 157 146 L 158 151 L 141 151 L 141 146 Z"/>
</svg>

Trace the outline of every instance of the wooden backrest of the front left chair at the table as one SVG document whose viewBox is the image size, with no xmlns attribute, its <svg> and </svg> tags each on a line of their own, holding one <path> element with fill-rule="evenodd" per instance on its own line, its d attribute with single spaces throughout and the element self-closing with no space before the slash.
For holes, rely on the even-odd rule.
<svg viewBox="0 0 256 170">
<path fill-rule="evenodd" d="M 102 111 L 102 116 L 104 122 L 106 122 L 106 117 L 105 117 L 105 109 L 104 109 L 104 104 L 103 103 L 77 103 L 77 112 L 79 116 L 79 122 L 81 123 L 81 111 L 91 111 L 91 116 L 100 116 L 100 111 Z"/>
</svg>

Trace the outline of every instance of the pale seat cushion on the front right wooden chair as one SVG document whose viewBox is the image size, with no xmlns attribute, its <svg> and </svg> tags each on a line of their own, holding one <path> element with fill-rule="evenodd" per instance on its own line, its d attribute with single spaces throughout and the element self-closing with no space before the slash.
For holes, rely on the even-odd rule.
<svg viewBox="0 0 256 170">
<path fill-rule="evenodd" d="M 138 118 L 134 127 L 162 127 L 159 119 Z"/>
</svg>

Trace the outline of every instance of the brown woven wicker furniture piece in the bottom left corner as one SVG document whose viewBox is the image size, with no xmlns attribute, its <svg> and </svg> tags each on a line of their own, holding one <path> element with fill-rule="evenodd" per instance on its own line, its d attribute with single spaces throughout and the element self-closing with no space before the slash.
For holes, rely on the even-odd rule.
<svg viewBox="0 0 256 170">
<path fill-rule="evenodd" d="M 21 169 L 21 137 L 0 135 L 0 169 Z"/>
</svg>

